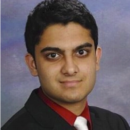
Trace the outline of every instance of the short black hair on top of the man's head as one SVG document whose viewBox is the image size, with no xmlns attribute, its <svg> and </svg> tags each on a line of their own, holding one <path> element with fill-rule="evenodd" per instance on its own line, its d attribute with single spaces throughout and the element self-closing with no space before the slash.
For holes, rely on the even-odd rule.
<svg viewBox="0 0 130 130">
<path fill-rule="evenodd" d="M 78 0 L 44 0 L 29 14 L 25 29 L 28 53 L 35 57 L 35 45 L 40 42 L 44 30 L 54 24 L 80 24 L 91 32 L 95 49 L 98 45 L 98 27 L 93 15 Z"/>
</svg>

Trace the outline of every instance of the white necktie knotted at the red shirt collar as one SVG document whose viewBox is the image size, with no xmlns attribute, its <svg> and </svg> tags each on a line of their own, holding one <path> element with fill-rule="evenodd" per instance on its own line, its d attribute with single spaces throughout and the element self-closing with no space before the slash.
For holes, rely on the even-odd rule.
<svg viewBox="0 0 130 130">
<path fill-rule="evenodd" d="M 77 130 L 88 130 L 87 120 L 82 116 L 78 116 L 74 122 L 74 127 Z"/>
</svg>

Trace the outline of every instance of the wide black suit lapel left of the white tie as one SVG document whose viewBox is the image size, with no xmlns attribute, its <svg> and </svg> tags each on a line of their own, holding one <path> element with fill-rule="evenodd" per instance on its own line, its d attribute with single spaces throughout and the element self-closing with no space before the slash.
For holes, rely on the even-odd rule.
<svg viewBox="0 0 130 130">
<path fill-rule="evenodd" d="M 36 94 L 32 92 L 25 108 L 36 120 L 40 126 L 45 130 L 73 130 L 63 118 L 61 118 L 55 111 L 48 107 Z"/>
</svg>

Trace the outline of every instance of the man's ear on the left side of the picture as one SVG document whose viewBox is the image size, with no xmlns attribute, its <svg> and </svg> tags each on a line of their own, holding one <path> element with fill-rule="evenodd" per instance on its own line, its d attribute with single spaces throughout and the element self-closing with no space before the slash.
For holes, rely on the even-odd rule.
<svg viewBox="0 0 130 130">
<path fill-rule="evenodd" d="M 27 53 L 25 55 L 25 61 L 26 61 L 26 64 L 27 64 L 32 76 L 37 76 L 38 73 L 37 73 L 36 63 L 35 63 L 33 56 L 31 54 Z"/>
</svg>

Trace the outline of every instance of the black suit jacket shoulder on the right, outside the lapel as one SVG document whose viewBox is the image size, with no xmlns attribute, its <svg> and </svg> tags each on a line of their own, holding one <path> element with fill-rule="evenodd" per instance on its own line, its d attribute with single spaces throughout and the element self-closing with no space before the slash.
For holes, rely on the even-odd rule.
<svg viewBox="0 0 130 130">
<path fill-rule="evenodd" d="M 91 115 L 93 115 L 97 119 L 106 122 L 108 126 L 111 126 L 111 128 L 119 127 L 120 129 L 122 128 L 121 130 L 124 130 L 124 128 L 126 128 L 125 130 L 130 130 L 127 121 L 117 113 L 94 106 L 90 106 L 89 110 Z"/>
</svg>

